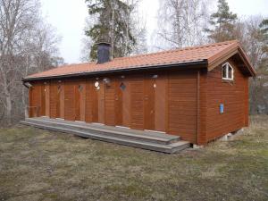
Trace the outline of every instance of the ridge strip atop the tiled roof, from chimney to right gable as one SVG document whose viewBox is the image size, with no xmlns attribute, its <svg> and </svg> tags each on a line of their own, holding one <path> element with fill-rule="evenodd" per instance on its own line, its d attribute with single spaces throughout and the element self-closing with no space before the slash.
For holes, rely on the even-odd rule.
<svg viewBox="0 0 268 201">
<path fill-rule="evenodd" d="M 148 53 L 148 54 L 137 54 L 137 55 L 132 55 L 132 56 L 123 56 L 123 57 L 117 57 L 114 58 L 113 60 L 122 60 L 122 59 L 127 59 L 127 58 L 136 58 L 136 57 L 143 57 L 143 56 L 149 56 L 149 55 L 155 55 L 155 54 L 167 54 L 167 53 L 172 53 L 172 52 L 180 52 L 180 51 L 185 51 L 185 50 L 192 50 L 192 49 L 200 49 L 200 48 L 205 48 L 205 47 L 210 47 L 210 46 L 222 46 L 222 45 L 227 45 L 227 44 L 232 44 L 232 43 L 239 43 L 238 40 L 229 40 L 229 41 L 223 41 L 219 43 L 211 43 L 211 44 L 206 44 L 202 46 L 186 46 L 182 48 L 176 48 L 172 50 L 163 50 L 155 53 Z"/>
</svg>

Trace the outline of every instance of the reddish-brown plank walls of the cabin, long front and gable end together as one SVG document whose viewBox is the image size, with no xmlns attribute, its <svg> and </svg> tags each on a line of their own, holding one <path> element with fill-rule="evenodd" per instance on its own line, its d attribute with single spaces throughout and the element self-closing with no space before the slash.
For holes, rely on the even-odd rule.
<svg viewBox="0 0 268 201">
<path fill-rule="evenodd" d="M 229 62 L 235 70 L 233 82 L 222 81 L 221 66 L 210 72 L 154 71 L 35 82 L 29 105 L 39 110 L 29 110 L 30 117 L 157 130 L 203 145 L 248 125 L 248 78 Z M 104 78 L 110 82 L 105 84 Z"/>
</svg>

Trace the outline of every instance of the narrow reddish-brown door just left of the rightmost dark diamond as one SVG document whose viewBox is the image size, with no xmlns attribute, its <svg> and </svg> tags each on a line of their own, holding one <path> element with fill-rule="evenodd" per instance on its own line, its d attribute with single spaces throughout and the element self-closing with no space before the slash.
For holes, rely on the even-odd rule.
<svg viewBox="0 0 268 201">
<path fill-rule="evenodd" d="M 124 83 L 123 80 L 115 80 L 115 125 L 117 126 L 122 126 L 123 121 L 122 121 L 122 112 L 123 112 L 123 93 L 126 90 L 126 84 Z"/>
</svg>

